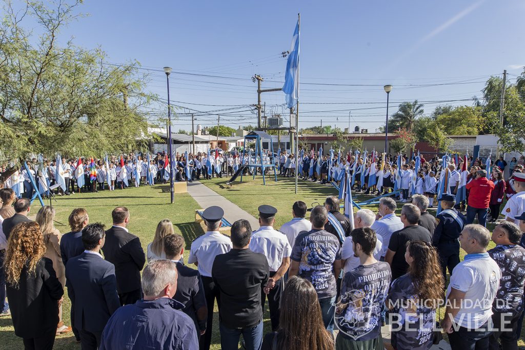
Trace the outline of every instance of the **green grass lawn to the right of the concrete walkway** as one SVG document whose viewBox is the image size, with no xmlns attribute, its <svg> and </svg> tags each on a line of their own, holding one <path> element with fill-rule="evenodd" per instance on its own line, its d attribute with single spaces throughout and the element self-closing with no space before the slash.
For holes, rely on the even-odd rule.
<svg viewBox="0 0 525 350">
<path fill-rule="evenodd" d="M 319 185 L 309 181 L 298 182 L 297 195 L 295 194 L 295 179 L 293 178 L 281 178 L 278 177 L 276 183 L 272 179 L 266 180 L 266 185 L 262 184 L 262 177 L 256 176 L 255 180 L 251 176 L 244 177 L 243 183 L 235 182 L 232 187 L 226 185 L 229 178 L 212 178 L 208 181 L 203 181 L 203 184 L 213 189 L 218 194 L 224 196 L 228 200 L 237 204 L 239 207 L 248 211 L 251 215 L 257 217 L 257 208 L 261 204 L 272 205 L 277 208 L 278 213 L 276 215 L 275 228 L 279 228 L 285 222 L 291 220 L 291 208 L 293 202 L 296 200 L 302 200 L 309 207 L 312 203 L 323 204 L 324 199 L 327 196 L 338 195 L 337 190 L 333 186 Z M 352 194 L 354 201 L 364 201 L 374 196 L 363 195 L 363 194 Z M 398 203 L 396 210 L 397 215 L 401 214 L 401 207 L 403 203 Z M 377 212 L 377 205 L 366 206 L 367 209 L 371 209 Z M 436 208 L 429 209 L 430 214 L 436 215 Z M 308 214 L 307 214 L 308 216 Z M 492 231 L 496 227 L 495 224 L 487 224 L 487 228 Z M 492 241 L 489 244 L 489 249 L 495 247 L 495 243 Z M 465 251 L 461 249 L 459 251 L 460 259 L 463 260 L 465 257 Z M 440 310 L 440 314 L 443 316 L 444 310 Z M 518 345 L 521 349 L 525 349 L 525 327 L 522 328 L 521 337 L 518 341 Z"/>
</svg>

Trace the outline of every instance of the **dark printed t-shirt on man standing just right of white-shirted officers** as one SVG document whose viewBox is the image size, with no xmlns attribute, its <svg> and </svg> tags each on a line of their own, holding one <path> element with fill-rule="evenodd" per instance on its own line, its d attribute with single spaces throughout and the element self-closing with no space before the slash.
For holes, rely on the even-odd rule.
<svg viewBox="0 0 525 350">
<path fill-rule="evenodd" d="M 337 293 L 333 262 L 341 259 L 337 237 L 325 230 L 311 230 L 297 236 L 291 260 L 299 262 L 299 276 L 312 282 L 319 299 Z"/>
</svg>

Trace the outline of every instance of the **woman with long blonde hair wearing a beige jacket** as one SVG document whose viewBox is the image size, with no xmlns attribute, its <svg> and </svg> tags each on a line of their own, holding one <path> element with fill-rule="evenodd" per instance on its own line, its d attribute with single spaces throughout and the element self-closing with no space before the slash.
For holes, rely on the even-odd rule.
<svg viewBox="0 0 525 350">
<path fill-rule="evenodd" d="M 55 208 L 47 205 L 41 207 L 36 214 L 36 222 L 40 225 L 40 232 L 42 232 L 44 245 L 46 246 L 44 257 L 51 259 L 53 262 L 55 274 L 62 284 L 62 288 L 64 288 L 66 285 L 66 269 L 64 268 L 64 262 L 62 262 L 62 257 L 60 256 L 60 239 L 62 238 L 62 235 L 53 225 L 54 219 Z M 64 322 L 62 322 L 62 305 L 60 305 L 58 308 L 57 334 L 69 332 L 71 332 L 71 327 L 64 325 Z"/>
</svg>

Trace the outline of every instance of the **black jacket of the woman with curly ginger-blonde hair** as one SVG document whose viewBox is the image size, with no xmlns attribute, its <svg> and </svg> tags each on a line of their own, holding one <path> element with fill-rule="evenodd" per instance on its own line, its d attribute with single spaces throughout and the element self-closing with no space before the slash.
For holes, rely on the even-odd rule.
<svg viewBox="0 0 525 350">
<path fill-rule="evenodd" d="M 17 336 L 37 338 L 56 331 L 58 300 L 64 295 L 64 289 L 50 259 L 40 259 L 34 275 L 28 275 L 24 267 L 18 288 L 7 283 L 6 291 Z"/>
</svg>

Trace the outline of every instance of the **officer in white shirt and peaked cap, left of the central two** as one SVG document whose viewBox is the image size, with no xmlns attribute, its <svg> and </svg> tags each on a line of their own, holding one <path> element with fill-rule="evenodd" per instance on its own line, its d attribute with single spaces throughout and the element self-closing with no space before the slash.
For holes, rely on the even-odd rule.
<svg viewBox="0 0 525 350">
<path fill-rule="evenodd" d="M 206 222 L 207 231 L 204 235 L 197 237 L 190 248 L 188 263 L 194 263 L 198 272 L 201 273 L 204 285 L 204 295 L 208 306 L 208 320 L 206 322 L 206 333 L 199 340 L 199 348 L 208 350 L 212 341 L 213 308 L 215 299 L 217 307 L 220 308 L 219 289 L 212 279 L 213 261 L 218 254 L 227 253 L 232 249 L 232 240 L 221 234 L 218 229 L 224 216 L 224 210 L 217 206 L 209 207 L 203 211 L 202 217 Z"/>
</svg>

